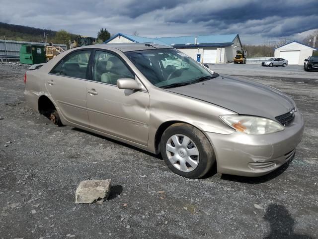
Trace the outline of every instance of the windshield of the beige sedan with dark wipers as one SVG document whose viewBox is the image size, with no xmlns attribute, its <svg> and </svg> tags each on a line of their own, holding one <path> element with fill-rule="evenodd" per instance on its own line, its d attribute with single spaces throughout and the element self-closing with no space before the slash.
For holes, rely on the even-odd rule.
<svg viewBox="0 0 318 239">
<path fill-rule="evenodd" d="M 152 49 L 125 54 L 157 87 L 176 87 L 219 76 L 176 49 Z"/>
</svg>

